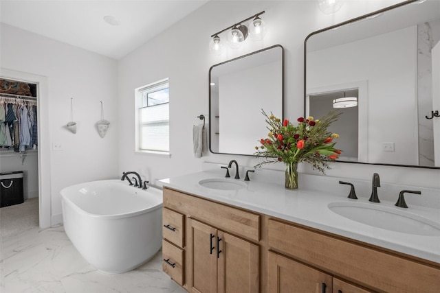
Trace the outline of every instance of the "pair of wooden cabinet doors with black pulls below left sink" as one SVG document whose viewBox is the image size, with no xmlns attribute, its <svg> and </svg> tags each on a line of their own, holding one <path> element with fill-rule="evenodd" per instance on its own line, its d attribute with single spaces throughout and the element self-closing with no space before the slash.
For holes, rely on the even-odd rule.
<svg viewBox="0 0 440 293">
<path fill-rule="evenodd" d="M 259 292 L 259 246 L 190 219 L 190 292 Z"/>
</svg>

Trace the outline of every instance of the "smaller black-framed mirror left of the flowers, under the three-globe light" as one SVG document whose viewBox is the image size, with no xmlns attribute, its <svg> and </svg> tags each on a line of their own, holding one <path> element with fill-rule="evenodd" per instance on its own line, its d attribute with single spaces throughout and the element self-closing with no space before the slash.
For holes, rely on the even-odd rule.
<svg viewBox="0 0 440 293">
<path fill-rule="evenodd" d="M 284 49 L 274 45 L 209 71 L 210 151 L 252 155 L 267 136 L 261 109 L 283 117 Z"/>
</svg>

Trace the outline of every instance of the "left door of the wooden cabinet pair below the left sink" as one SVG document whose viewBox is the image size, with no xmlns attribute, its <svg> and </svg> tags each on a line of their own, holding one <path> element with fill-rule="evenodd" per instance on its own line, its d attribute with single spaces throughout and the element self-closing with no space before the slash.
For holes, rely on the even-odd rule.
<svg viewBox="0 0 440 293">
<path fill-rule="evenodd" d="M 191 292 L 217 292 L 217 229 L 190 220 Z"/>
</svg>

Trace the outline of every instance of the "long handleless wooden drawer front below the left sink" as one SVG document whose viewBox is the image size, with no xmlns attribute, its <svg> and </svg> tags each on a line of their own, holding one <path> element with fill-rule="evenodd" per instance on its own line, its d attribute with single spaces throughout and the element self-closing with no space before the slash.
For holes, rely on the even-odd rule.
<svg viewBox="0 0 440 293">
<path fill-rule="evenodd" d="M 255 242 L 260 238 L 261 215 L 229 207 L 225 204 L 204 200 L 197 196 L 184 194 L 164 188 L 164 207 L 179 211 L 220 230 Z"/>
</svg>

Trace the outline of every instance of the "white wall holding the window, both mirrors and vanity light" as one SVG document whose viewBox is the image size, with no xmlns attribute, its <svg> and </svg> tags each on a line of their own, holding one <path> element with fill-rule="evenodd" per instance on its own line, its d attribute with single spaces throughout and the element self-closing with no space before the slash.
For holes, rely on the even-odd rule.
<svg viewBox="0 0 440 293">
<path fill-rule="evenodd" d="M 186 19 L 133 51 L 119 63 L 120 152 L 119 172 L 134 170 L 155 180 L 201 170 L 201 161 L 255 165 L 252 156 L 210 154 L 195 159 L 192 154 L 192 126 L 197 116 L 208 114 L 208 71 L 219 62 L 252 51 L 281 44 L 285 47 L 285 115 L 296 119 L 303 115 L 303 44 L 316 30 L 362 14 L 393 5 L 399 1 L 345 1 L 336 14 L 325 15 L 314 1 L 210 1 Z M 210 35 L 265 10 L 263 19 L 269 27 L 265 40 L 247 40 L 237 50 L 212 56 L 208 50 Z M 170 78 L 170 159 L 135 154 L 133 89 Z M 245 119 L 245 118 L 243 118 Z M 239 127 L 239 126 L 238 126 Z M 282 169 L 279 164 L 276 168 Z M 382 183 L 404 183 L 440 187 L 439 170 L 380 165 L 335 163 L 330 176 L 371 178 L 381 175 Z M 307 165 L 303 172 L 313 172 Z"/>
</svg>

